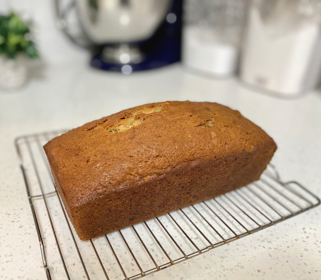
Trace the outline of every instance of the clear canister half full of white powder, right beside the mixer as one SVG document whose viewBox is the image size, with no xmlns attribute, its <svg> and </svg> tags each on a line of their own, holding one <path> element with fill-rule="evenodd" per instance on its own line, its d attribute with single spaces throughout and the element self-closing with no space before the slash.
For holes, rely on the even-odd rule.
<svg viewBox="0 0 321 280">
<path fill-rule="evenodd" d="M 227 77 L 236 72 L 247 0 L 186 0 L 183 5 L 182 62 L 201 73 Z"/>
</svg>

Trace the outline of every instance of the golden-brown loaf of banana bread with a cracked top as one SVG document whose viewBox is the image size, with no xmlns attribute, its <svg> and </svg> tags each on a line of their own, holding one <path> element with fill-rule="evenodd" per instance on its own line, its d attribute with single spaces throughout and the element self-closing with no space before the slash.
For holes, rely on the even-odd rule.
<svg viewBox="0 0 321 280">
<path fill-rule="evenodd" d="M 44 149 L 69 218 L 88 240 L 258 180 L 276 145 L 238 111 L 171 101 L 92 121 Z"/>
</svg>

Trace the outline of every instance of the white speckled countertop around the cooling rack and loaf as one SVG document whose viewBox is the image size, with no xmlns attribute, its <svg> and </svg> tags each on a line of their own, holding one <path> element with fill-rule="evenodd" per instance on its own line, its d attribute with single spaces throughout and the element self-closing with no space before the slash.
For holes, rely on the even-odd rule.
<svg viewBox="0 0 321 280">
<path fill-rule="evenodd" d="M 143 103 L 215 101 L 239 110 L 278 145 L 284 180 L 321 196 L 321 94 L 297 99 L 257 93 L 236 79 L 215 80 L 172 65 L 123 76 L 85 62 L 50 66 L 16 92 L 0 92 L 0 279 L 45 279 L 16 136 L 80 126 Z M 39 71 L 38 71 L 39 73 Z M 144 279 L 320 279 L 321 212 L 314 208 Z"/>
</svg>

